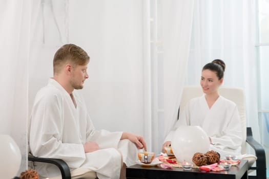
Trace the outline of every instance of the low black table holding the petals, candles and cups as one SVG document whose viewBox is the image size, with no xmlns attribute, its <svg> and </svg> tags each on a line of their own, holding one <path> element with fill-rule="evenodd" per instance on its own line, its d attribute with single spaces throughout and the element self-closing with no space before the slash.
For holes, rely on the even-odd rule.
<svg viewBox="0 0 269 179">
<path fill-rule="evenodd" d="M 183 170 L 183 168 L 162 169 L 160 167 L 142 167 L 138 164 L 126 168 L 127 179 L 133 178 L 200 178 L 200 179 L 247 179 L 247 169 L 249 164 L 247 160 L 241 160 L 237 166 L 232 166 L 230 170 L 218 172 L 204 172 L 198 168 L 192 170 Z"/>
</svg>

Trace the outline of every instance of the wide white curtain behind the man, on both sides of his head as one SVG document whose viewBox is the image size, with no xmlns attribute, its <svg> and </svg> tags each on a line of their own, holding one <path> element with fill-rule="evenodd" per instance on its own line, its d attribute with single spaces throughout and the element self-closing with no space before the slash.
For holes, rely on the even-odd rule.
<svg viewBox="0 0 269 179">
<path fill-rule="evenodd" d="M 29 60 L 29 107 L 37 90 L 53 76 L 52 60 L 64 43 L 74 43 L 91 57 L 89 79 L 80 91 L 97 129 L 144 135 L 150 128 L 144 68 L 142 0 L 34 1 L 33 37 Z M 149 20 L 149 19 L 148 19 Z M 145 91 L 145 92 L 144 92 Z M 148 103 L 148 102 L 147 102 Z M 145 135 L 150 143 L 149 135 Z"/>
</svg>

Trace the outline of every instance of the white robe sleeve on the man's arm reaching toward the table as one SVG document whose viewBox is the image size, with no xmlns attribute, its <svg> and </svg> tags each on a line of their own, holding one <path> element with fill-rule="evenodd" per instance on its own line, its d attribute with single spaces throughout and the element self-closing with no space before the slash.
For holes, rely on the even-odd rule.
<svg viewBox="0 0 269 179">
<path fill-rule="evenodd" d="M 86 141 L 94 141 L 100 149 L 117 148 L 122 132 L 110 132 L 108 130 L 95 130 L 89 115 L 87 116 L 87 137 Z"/>
</svg>

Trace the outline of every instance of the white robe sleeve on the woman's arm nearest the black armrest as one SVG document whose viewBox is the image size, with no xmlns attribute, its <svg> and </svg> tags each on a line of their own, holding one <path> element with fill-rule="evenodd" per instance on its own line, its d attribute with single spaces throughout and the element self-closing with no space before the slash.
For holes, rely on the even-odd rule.
<svg viewBox="0 0 269 179">
<path fill-rule="evenodd" d="M 223 126 L 221 131 L 222 135 L 210 137 L 214 147 L 221 150 L 238 149 L 242 144 L 241 121 L 236 105 L 230 109 L 229 113 L 226 117 L 227 125 Z"/>
</svg>

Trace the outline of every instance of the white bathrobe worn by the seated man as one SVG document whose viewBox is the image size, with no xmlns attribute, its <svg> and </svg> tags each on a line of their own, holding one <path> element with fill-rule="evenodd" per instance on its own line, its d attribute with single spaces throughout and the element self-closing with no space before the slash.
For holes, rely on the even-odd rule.
<svg viewBox="0 0 269 179">
<path fill-rule="evenodd" d="M 29 144 L 34 156 L 64 160 L 71 170 L 89 168 L 98 178 L 119 178 L 121 155 L 127 166 L 135 164 L 137 148 L 129 140 L 120 140 L 122 132 L 95 130 L 84 100 L 73 92 L 77 107 L 70 95 L 54 79 L 37 93 L 32 108 Z M 85 153 L 84 143 L 95 141 L 100 150 Z M 117 150 L 118 149 L 118 150 Z M 51 164 L 36 163 L 41 176 L 59 175 Z"/>
</svg>

